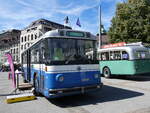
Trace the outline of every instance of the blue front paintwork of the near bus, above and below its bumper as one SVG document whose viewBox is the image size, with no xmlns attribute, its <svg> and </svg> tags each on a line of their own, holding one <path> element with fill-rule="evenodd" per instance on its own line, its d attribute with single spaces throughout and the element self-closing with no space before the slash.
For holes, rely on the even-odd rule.
<svg viewBox="0 0 150 113">
<path fill-rule="evenodd" d="M 84 75 L 82 75 L 84 73 Z M 64 81 L 59 82 L 56 80 L 57 75 L 62 74 L 64 76 Z M 57 95 L 49 94 L 50 89 L 63 89 L 63 88 L 74 88 L 74 87 L 84 87 L 89 85 L 99 85 L 101 83 L 100 76 L 94 78 L 94 75 L 100 75 L 99 71 L 89 71 L 89 72 L 74 72 L 74 73 L 57 73 L 57 74 L 46 74 L 45 75 L 45 89 L 44 95 L 47 98 L 55 98 L 66 95 L 80 94 L 81 91 L 69 92 L 69 93 L 60 93 Z M 85 92 L 94 91 L 97 89 L 91 89 Z"/>
</svg>

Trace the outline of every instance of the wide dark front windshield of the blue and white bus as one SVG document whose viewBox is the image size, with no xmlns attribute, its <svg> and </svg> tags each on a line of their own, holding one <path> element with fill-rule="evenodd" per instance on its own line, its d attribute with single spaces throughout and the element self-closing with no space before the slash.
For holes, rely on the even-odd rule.
<svg viewBox="0 0 150 113">
<path fill-rule="evenodd" d="M 44 60 L 47 64 L 89 64 L 96 61 L 95 41 L 49 38 L 43 42 Z M 92 56 L 86 53 L 93 52 Z M 97 62 L 98 63 L 98 62 Z"/>
</svg>

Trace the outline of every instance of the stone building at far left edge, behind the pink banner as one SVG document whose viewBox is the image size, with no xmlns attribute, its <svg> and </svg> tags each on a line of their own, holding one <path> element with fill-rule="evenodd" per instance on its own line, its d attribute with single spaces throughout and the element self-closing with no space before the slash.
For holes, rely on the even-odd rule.
<svg viewBox="0 0 150 113">
<path fill-rule="evenodd" d="M 6 63 L 6 52 L 12 54 L 14 62 L 19 62 L 20 30 L 12 29 L 0 33 L 0 64 Z"/>
</svg>

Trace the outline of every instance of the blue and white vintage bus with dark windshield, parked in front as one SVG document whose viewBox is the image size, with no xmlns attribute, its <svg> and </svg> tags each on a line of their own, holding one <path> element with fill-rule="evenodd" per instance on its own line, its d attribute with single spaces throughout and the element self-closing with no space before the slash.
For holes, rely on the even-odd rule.
<svg viewBox="0 0 150 113">
<path fill-rule="evenodd" d="M 96 37 L 89 32 L 48 31 L 22 53 L 24 80 L 47 98 L 96 91 L 102 87 L 96 54 Z"/>
</svg>

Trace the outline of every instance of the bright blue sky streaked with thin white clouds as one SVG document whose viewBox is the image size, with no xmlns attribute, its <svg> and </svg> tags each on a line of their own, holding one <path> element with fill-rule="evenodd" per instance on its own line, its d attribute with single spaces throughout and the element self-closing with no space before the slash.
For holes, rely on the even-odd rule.
<svg viewBox="0 0 150 113">
<path fill-rule="evenodd" d="M 121 0 L 102 0 L 103 3 L 117 3 L 120 1 Z M 41 17 L 58 20 L 56 22 L 62 23 L 60 20 L 63 20 L 63 16 L 65 17 L 67 15 L 72 17 L 72 19 L 82 17 L 83 12 L 97 7 L 100 0 L 71 0 L 65 5 L 62 5 L 61 2 L 61 0 L 14 0 L 15 5 L 0 3 L 0 25 L 2 25 L 3 28 L 17 27 L 17 25 L 26 27 L 31 21 Z M 114 8 L 110 8 L 109 10 L 110 12 L 114 12 Z M 106 27 L 110 25 L 112 15 L 112 13 L 104 14 L 102 21 Z M 97 18 L 97 14 L 95 14 L 95 17 L 90 18 L 90 20 L 93 18 Z M 1 19 L 7 19 L 8 22 L 2 22 Z M 73 28 L 79 29 L 77 26 L 73 26 Z M 96 33 L 98 31 L 97 28 L 98 21 L 93 24 L 89 22 L 89 19 L 84 18 L 80 29 Z"/>
</svg>

